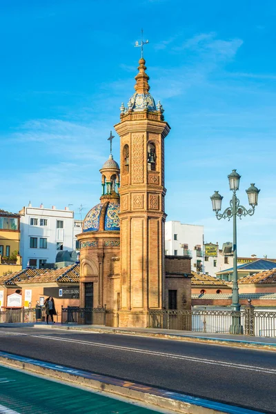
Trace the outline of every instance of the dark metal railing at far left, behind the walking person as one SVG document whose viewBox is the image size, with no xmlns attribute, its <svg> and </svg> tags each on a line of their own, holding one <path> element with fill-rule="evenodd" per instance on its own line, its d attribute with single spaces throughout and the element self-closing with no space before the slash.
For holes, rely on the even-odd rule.
<svg viewBox="0 0 276 414">
<path fill-rule="evenodd" d="M 55 322 L 59 322 L 59 313 L 54 317 Z M 50 318 L 51 321 L 51 318 Z M 37 308 L 26 309 L 6 309 L 0 311 L 0 324 L 3 323 L 34 323 L 46 322 L 45 308 L 39 306 Z"/>
</svg>

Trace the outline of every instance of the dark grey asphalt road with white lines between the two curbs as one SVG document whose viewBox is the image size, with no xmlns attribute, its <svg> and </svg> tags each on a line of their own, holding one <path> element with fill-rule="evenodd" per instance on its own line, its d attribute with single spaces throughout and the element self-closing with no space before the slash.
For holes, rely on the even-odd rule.
<svg viewBox="0 0 276 414">
<path fill-rule="evenodd" d="M 272 351 L 12 326 L 0 326 L 0 351 L 276 413 Z"/>
</svg>

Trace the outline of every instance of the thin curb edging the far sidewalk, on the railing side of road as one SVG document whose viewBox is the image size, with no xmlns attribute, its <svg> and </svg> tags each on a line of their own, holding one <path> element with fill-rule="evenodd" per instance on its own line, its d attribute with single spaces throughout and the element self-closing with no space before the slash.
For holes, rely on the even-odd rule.
<svg viewBox="0 0 276 414">
<path fill-rule="evenodd" d="M 244 339 L 228 339 L 228 338 L 217 338 L 217 337 L 199 337 L 195 335 L 177 335 L 177 333 L 152 333 L 146 331 L 126 331 L 121 328 L 77 328 L 76 326 L 51 326 L 52 329 L 64 329 L 68 331 L 83 331 L 83 332 L 97 332 L 97 333 L 111 333 L 119 335 L 137 335 L 142 337 L 155 337 L 160 339 L 172 339 L 177 341 L 190 341 L 190 342 L 202 342 L 204 344 L 213 342 L 215 344 L 224 346 L 237 346 L 239 348 L 259 348 L 269 351 L 276 351 L 276 344 L 270 344 L 269 342 L 256 342 L 256 341 L 245 341 Z"/>
</svg>

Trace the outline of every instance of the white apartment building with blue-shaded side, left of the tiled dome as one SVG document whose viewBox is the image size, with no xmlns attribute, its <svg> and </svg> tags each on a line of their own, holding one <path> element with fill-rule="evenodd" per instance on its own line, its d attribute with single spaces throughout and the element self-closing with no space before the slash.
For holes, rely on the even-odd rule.
<svg viewBox="0 0 276 414">
<path fill-rule="evenodd" d="M 55 263 L 60 250 L 78 250 L 76 235 L 81 233 L 81 220 L 74 219 L 74 212 L 52 208 L 23 207 L 20 229 L 20 255 L 22 266 L 26 268 L 43 267 L 46 263 Z"/>
</svg>

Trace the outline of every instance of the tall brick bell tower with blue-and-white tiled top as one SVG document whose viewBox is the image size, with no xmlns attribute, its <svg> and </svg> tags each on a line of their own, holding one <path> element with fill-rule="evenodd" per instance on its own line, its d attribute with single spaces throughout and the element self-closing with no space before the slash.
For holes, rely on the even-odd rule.
<svg viewBox="0 0 276 414">
<path fill-rule="evenodd" d="M 148 309 L 164 306 L 164 138 L 170 126 L 149 93 L 139 60 L 135 94 L 121 104 L 121 304 L 119 326 L 147 326 Z"/>
</svg>

